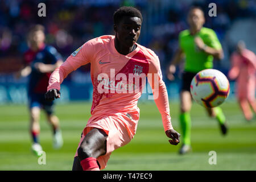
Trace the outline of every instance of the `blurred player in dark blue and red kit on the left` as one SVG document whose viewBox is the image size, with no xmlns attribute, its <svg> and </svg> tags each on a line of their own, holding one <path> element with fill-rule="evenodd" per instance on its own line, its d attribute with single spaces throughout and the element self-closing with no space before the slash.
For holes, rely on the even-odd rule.
<svg viewBox="0 0 256 182">
<path fill-rule="evenodd" d="M 30 134 L 32 137 L 32 151 L 39 155 L 42 146 L 39 144 L 40 133 L 40 109 L 46 111 L 47 120 L 53 130 L 53 147 L 60 148 L 63 145 L 59 119 L 53 114 L 53 101 L 46 101 L 44 94 L 47 91 L 51 73 L 59 67 L 63 60 L 60 54 L 52 46 L 44 43 L 44 27 L 40 24 L 32 27 L 28 33 L 28 51 L 24 53 L 24 68 L 16 77 L 30 75 L 28 81 L 28 104 L 30 109 Z"/>
</svg>

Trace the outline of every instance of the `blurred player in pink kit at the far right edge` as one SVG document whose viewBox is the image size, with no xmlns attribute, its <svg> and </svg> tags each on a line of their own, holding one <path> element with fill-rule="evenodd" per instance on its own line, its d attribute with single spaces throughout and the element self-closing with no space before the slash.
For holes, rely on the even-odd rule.
<svg viewBox="0 0 256 182">
<path fill-rule="evenodd" d="M 256 56 L 246 49 L 243 41 L 238 42 L 237 51 L 231 56 L 232 67 L 228 73 L 230 79 L 236 79 L 237 100 L 247 121 L 253 119 L 250 106 L 256 112 L 255 73 Z"/>
</svg>

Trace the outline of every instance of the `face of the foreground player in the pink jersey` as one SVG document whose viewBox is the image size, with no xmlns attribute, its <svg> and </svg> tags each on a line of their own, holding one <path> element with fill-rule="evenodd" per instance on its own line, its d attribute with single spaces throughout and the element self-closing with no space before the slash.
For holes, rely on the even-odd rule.
<svg viewBox="0 0 256 182">
<path fill-rule="evenodd" d="M 124 16 L 123 19 L 114 25 L 115 36 L 122 46 L 131 47 L 139 39 L 141 34 L 141 19 L 134 16 Z"/>
</svg>

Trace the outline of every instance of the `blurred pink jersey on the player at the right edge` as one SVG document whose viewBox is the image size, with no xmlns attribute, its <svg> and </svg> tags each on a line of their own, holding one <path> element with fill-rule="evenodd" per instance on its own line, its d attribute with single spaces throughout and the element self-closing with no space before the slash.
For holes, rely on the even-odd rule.
<svg viewBox="0 0 256 182">
<path fill-rule="evenodd" d="M 237 96 L 239 98 L 255 97 L 255 71 L 256 56 L 248 49 L 244 49 L 240 54 L 234 52 L 231 56 L 232 68 L 229 77 L 237 78 Z"/>
</svg>

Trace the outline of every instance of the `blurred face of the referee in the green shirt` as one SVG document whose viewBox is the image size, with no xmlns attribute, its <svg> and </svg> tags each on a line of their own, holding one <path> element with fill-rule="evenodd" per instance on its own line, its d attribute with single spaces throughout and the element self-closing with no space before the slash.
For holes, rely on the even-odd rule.
<svg viewBox="0 0 256 182">
<path fill-rule="evenodd" d="M 193 9 L 188 15 L 188 24 L 193 30 L 200 30 L 205 22 L 204 13 L 200 9 Z"/>
</svg>

